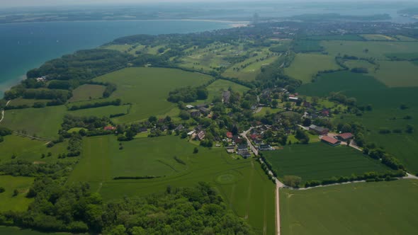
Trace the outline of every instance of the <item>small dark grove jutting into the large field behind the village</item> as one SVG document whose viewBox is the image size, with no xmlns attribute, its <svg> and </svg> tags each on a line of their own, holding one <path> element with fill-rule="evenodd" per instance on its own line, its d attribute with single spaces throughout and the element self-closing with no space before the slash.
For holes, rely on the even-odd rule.
<svg viewBox="0 0 418 235">
<path fill-rule="evenodd" d="M 208 94 L 209 92 L 206 88 L 188 86 L 170 91 L 169 98 L 167 100 L 173 103 L 179 103 L 179 101 L 190 103 L 197 100 L 205 100 L 208 98 Z"/>
</svg>

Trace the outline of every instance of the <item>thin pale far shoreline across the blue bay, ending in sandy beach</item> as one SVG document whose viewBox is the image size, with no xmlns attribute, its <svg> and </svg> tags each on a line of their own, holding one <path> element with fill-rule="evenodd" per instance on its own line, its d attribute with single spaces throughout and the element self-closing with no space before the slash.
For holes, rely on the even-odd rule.
<svg viewBox="0 0 418 235">
<path fill-rule="evenodd" d="M 92 21 L 21 21 L 21 22 L 8 22 L 0 23 L 0 25 L 7 24 L 23 24 L 23 23 L 85 23 L 85 22 L 135 22 L 135 21 L 197 21 L 197 22 L 215 22 L 215 23 L 228 23 L 232 28 L 243 27 L 249 25 L 250 21 L 228 21 L 228 20 L 211 20 L 211 19 L 148 19 L 148 20 L 92 20 Z"/>
</svg>

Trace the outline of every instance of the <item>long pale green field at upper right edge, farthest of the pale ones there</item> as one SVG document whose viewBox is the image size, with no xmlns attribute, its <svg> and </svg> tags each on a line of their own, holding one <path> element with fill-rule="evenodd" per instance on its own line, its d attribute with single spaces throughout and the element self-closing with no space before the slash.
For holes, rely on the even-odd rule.
<svg viewBox="0 0 418 235">
<path fill-rule="evenodd" d="M 361 42 L 322 41 L 322 47 L 329 55 L 351 55 L 360 58 L 387 59 L 391 53 L 418 53 L 417 42 Z"/>
</svg>

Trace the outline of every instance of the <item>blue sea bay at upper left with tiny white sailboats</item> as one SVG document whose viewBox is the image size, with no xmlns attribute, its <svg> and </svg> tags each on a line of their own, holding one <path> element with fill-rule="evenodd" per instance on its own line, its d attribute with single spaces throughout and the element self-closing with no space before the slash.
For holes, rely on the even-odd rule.
<svg viewBox="0 0 418 235">
<path fill-rule="evenodd" d="M 43 62 L 135 34 L 193 33 L 230 28 L 213 21 L 84 21 L 0 24 L 0 97 Z"/>
</svg>

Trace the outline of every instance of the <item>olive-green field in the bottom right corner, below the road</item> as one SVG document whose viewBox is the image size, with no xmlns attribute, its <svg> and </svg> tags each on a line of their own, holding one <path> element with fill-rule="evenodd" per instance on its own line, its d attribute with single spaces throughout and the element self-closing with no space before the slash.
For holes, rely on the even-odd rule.
<svg viewBox="0 0 418 235">
<path fill-rule="evenodd" d="M 292 234 L 415 234 L 417 180 L 281 190 L 281 228 Z"/>
</svg>

